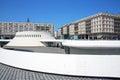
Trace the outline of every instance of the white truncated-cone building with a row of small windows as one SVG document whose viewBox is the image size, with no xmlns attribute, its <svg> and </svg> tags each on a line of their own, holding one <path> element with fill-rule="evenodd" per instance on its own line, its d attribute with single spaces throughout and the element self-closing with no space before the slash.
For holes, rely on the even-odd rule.
<svg viewBox="0 0 120 80">
<path fill-rule="evenodd" d="M 55 40 L 55 38 L 49 32 L 17 32 L 14 39 L 5 46 L 45 46 L 40 42 L 44 40 Z"/>
</svg>

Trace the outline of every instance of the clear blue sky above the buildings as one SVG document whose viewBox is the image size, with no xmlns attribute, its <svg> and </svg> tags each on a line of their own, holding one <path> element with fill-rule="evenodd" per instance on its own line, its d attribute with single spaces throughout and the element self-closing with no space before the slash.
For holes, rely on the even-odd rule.
<svg viewBox="0 0 120 80">
<path fill-rule="evenodd" d="M 0 0 L 0 21 L 53 23 L 58 27 L 95 14 L 120 13 L 120 0 Z"/>
</svg>

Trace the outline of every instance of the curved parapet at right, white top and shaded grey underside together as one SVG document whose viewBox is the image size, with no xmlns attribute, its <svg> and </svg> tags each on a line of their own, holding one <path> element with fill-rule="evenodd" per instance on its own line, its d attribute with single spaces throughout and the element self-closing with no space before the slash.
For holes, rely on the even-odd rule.
<svg viewBox="0 0 120 80">
<path fill-rule="evenodd" d="M 67 54 L 120 55 L 120 41 L 112 40 L 65 40 Z"/>
</svg>

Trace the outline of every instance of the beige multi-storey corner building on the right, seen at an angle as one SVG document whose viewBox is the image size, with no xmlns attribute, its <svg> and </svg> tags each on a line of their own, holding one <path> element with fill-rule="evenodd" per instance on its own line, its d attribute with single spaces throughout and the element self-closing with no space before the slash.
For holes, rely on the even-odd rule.
<svg viewBox="0 0 120 80">
<path fill-rule="evenodd" d="M 61 39 L 120 39 L 120 16 L 100 12 L 65 24 L 58 29 Z"/>
</svg>

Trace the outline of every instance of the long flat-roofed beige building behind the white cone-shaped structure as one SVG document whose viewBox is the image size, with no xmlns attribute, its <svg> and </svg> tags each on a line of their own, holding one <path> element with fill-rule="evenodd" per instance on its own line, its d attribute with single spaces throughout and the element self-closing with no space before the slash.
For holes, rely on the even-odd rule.
<svg viewBox="0 0 120 80">
<path fill-rule="evenodd" d="M 29 22 L 0 22 L 0 38 L 11 39 L 16 32 L 46 31 L 54 35 L 54 25 L 49 23 Z"/>
</svg>

